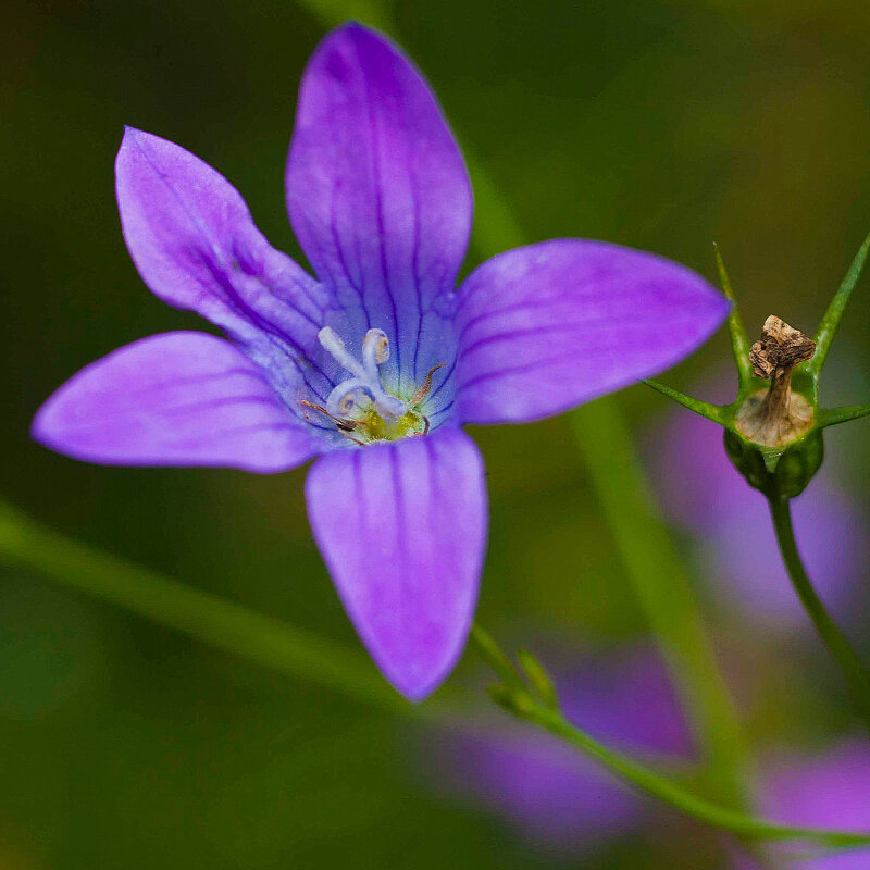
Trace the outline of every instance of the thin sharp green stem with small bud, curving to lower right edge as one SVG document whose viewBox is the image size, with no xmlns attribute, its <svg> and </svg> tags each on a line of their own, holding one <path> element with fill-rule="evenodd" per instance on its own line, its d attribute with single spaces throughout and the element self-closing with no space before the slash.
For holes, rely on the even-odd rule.
<svg viewBox="0 0 870 870">
<path fill-rule="evenodd" d="M 484 659 L 500 676 L 505 662 L 510 662 L 510 659 L 501 651 L 496 641 L 480 625 L 475 625 L 472 641 Z M 870 834 L 770 824 L 745 813 L 724 809 L 692 794 L 672 780 L 662 776 L 638 761 L 605 746 L 595 737 L 569 722 L 559 709 L 542 703 L 524 688 L 514 689 L 512 697 L 506 697 L 505 701 L 504 706 L 514 716 L 548 731 L 554 736 L 574 746 L 635 790 L 712 828 L 728 831 L 746 840 L 804 840 L 833 847 L 858 846 L 870 843 Z"/>
</svg>

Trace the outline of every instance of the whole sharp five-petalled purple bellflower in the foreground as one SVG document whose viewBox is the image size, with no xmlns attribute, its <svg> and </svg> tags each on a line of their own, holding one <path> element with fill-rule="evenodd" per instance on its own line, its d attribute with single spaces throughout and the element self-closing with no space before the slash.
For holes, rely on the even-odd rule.
<svg viewBox="0 0 870 870">
<path fill-rule="evenodd" d="M 115 169 L 144 281 L 228 340 L 171 333 L 116 350 L 49 399 L 34 436 L 107 464 L 278 472 L 321 457 L 306 487 L 314 537 L 409 698 L 452 667 L 477 593 L 484 470 L 460 424 L 535 420 L 623 387 L 726 312 L 686 269 L 596 241 L 502 253 L 455 290 L 472 213 L 462 156 L 411 63 L 357 24 L 311 59 L 287 163 L 316 278 L 178 146 L 128 129 Z"/>
</svg>

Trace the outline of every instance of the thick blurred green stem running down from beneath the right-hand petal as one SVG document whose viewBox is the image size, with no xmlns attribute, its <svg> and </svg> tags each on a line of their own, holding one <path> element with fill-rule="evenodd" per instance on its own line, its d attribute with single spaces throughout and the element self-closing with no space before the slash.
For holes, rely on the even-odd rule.
<svg viewBox="0 0 870 870">
<path fill-rule="evenodd" d="M 571 415 L 584 469 L 646 612 L 703 755 L 713 793 L 739 805 L 746 750 L 688 579 L 662 526 L 614 399 Z"/>
</svg>

